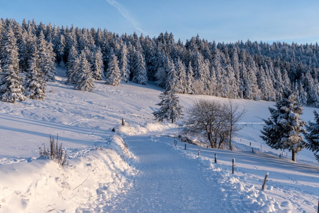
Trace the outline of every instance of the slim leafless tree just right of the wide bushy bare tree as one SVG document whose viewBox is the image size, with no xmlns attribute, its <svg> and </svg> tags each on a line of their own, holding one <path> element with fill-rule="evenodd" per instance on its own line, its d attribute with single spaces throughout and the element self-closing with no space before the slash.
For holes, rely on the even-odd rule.
<svg viewBox="0 0 319 213">
<path fill-rule="evenodd" d="M 229 132 L 229 149 L 231 150 L 232 138 L 243 128 L 243 126 L 238 125 L 238 122 L 241 121 L 247 110 L 245 108 L 239 109 L 239 104 L 234 103 L 231 99 L 228 99 L 228 101 L 224 103 L 224 110 Z"/>
</svg>

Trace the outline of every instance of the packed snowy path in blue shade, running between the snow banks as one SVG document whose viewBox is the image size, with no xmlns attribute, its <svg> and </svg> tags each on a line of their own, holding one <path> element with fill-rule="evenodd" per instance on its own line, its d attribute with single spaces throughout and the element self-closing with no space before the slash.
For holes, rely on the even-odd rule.
<svg viewBox="0 0 319 213">
<path fill-rule="evenodd" d="M 219 186 L 196 161 L 185 158 L 149 136 L 125 139 L 139 158 L 140 172 L 127 193 L 101 209 L 106 212 L 229 212 Z"/>
</svg>

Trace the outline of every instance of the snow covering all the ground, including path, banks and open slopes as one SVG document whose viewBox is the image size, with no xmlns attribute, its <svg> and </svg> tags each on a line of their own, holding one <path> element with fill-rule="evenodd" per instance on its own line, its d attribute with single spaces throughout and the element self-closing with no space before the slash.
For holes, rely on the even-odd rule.
<svg viewBox="0 0 319 213">
<path fill-rule="evenodd" d="M 95 81 L 93 92 L 83 92 L 64 84 L 64 72 L 48 83 L 44 101 L 0 103 L 0 212 L 315 212 L 313 154 L 302 150 L 294 163 L 291 153 L 279 158 L 281 151 L 259 137 L 274 103 L 234 100 L 248 110 L 234 140 L 237 151 L 201 148 L 198 157 L 198 146 L 173 146 L 177 125 L 153 120 L 161 92 L 154 83 Z M 200 98 L 226 101 L 179 96 L 185 109 Z M 305 107 L 302 118 L 313 120 L 313 110 Z M 130 126 L 118 128 L 122 118 Z M 65 169 L 36 159 L 49 134 L 58 134 L 68 152 Z"/>
</svg>

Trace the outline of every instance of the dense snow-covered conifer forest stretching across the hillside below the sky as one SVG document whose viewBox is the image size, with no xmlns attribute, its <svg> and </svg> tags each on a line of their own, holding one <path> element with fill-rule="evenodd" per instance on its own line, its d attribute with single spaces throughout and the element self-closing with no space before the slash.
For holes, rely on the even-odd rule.
<svg viewBox="0 0 319 213">
<path fill-rule="evenodd" d="M 302 105 L 319 101 L 318 44 L 238 41 L 216 43 L 197 34 L 183 43 L 173 33 L 150 38 L 135 32 L 0 20 L 2 101 L 44 99 L 56 64 L 67 68 L 68 83 L 91 91 L 93 79 L 118 85 L 148 80 L 176 93 L 275 101 L 285 86 Z M 1 69 L 0 68 L 0 69 Z M 23 78 L 20 73 L 25 72 Z"/>
</svg>

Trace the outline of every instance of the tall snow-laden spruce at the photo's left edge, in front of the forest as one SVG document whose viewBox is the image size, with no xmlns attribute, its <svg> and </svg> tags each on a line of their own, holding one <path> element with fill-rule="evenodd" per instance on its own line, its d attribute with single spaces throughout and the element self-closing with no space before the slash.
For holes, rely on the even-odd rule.
<svg viewBox="0 0 319 213">
<path fill-rule="evenodd" d="M 22 78 L 19 77 L 19 54 L 16 38 L 10 26 L 2 40 L 0 72 L 0 100 L 4 102 L 24 101 Z"/>
</svg>

